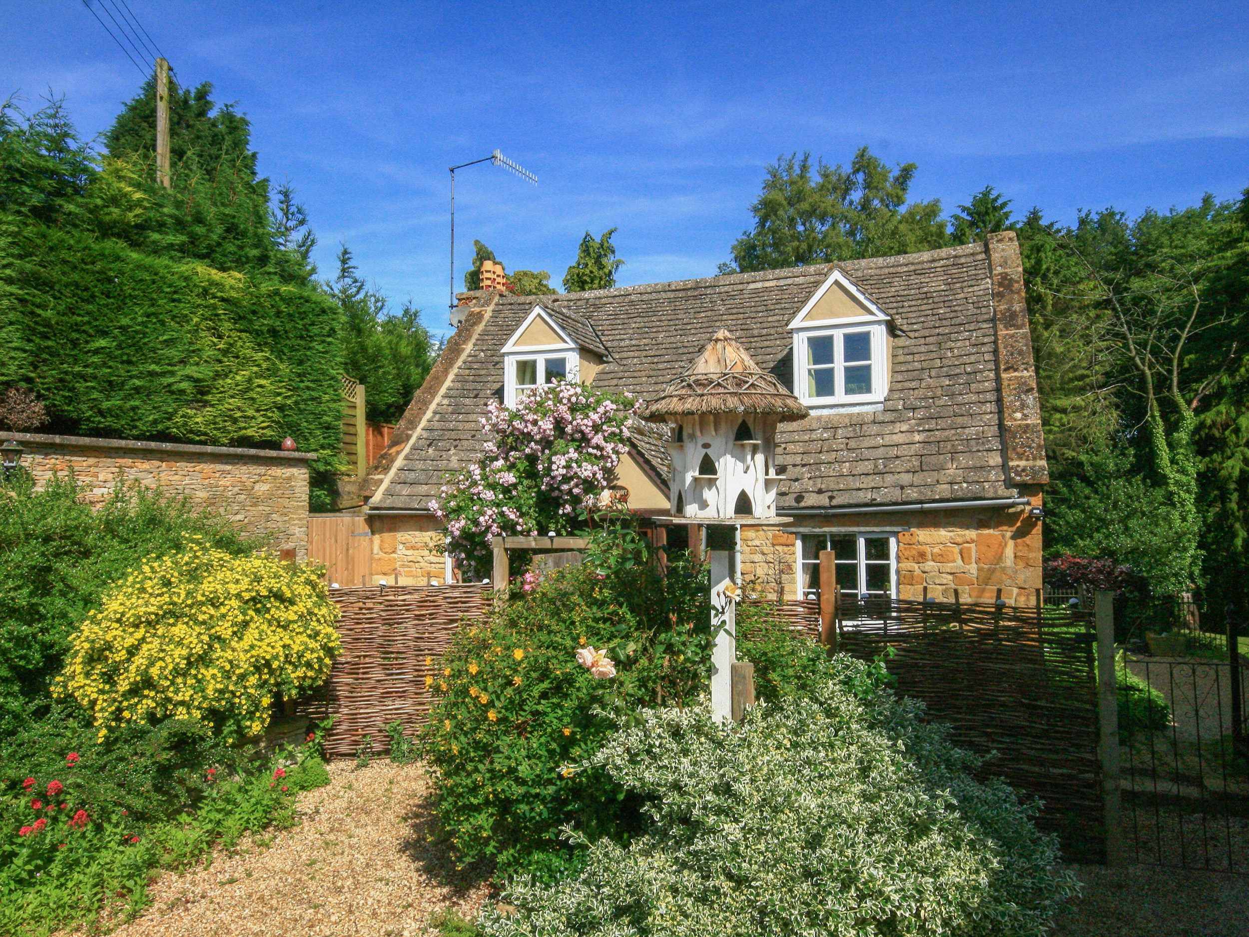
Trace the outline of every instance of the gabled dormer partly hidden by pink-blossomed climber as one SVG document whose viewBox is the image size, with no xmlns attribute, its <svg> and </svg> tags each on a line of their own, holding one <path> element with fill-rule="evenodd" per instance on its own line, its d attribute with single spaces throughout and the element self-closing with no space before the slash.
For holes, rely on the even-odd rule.
<svg viewBox="0 0 1249 937">
<path fill-rule="evenodd" d="M 541 304 L 502 347 L 503 404 L 516 406 L 526 391 L 558 380 L 590 384 L 608 360 L 593 326 L 580 316 Z"/>
</svg>

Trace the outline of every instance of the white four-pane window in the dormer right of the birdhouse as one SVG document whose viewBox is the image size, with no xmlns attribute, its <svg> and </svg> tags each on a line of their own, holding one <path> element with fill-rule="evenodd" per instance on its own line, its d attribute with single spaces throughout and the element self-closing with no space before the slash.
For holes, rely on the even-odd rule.
<svg viewBox="0 0 1249 937">
<path fill-rule="evenodd" d="M 796 332 L 794 395 L 803 404 L 872 404 L 884 400 L 883 324 Z"/>
</svg>

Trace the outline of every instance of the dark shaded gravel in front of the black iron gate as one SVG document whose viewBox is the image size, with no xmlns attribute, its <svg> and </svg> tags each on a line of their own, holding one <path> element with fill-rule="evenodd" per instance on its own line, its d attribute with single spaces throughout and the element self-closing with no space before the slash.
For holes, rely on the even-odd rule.
<svg viewBox="0 0 1249 937">
<path fill-rule="evenodd" d="M 1249 877 L 1128 866 L 1077 866 L 1084 895 L 1050 937 L 1244 937 Z"/>
</svg>

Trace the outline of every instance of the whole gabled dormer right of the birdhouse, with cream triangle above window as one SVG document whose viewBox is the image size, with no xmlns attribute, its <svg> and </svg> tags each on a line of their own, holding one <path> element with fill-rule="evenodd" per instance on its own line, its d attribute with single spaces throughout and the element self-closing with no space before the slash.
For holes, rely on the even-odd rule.
<svg viewBox="0 0 1249 937">
<path fill-rule="evenodd" d="M 839 269 L 789 325 L 794 396 L 812 414 L 873 407 L 889 392 L 892 317 Z"/>
</svg>

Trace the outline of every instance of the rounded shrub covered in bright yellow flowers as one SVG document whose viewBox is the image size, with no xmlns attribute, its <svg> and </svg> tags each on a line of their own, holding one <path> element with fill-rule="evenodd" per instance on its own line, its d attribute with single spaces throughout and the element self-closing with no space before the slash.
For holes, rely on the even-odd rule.
<svg viewBox="0 0 1249 937">
<path fill-rule="evenodd" d="M 189 537 L 116 582 L 70 638 L 54 685 L 102 738 L 126 722 L 189 718 L 226 738 L 265 730 L 275 695 L 330 676 L 338 610 L 306 566 L 231 556 Z"/>
</svg>

